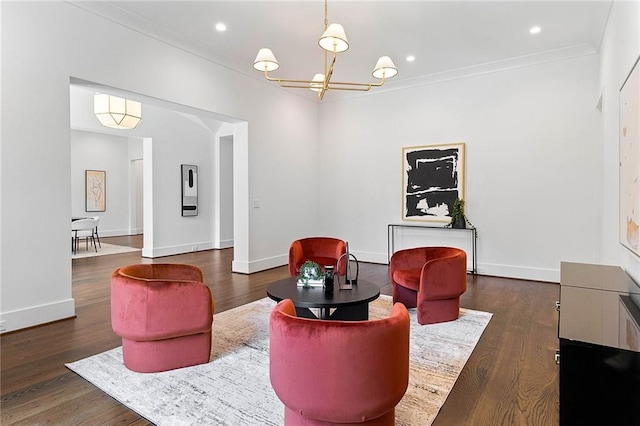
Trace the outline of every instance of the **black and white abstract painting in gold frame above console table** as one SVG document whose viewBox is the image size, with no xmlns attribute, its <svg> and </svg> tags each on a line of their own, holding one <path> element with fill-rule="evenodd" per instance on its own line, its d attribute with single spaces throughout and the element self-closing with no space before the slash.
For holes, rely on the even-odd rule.
<svg viewBox="0 0 640 426">
<path fill-rule="evenodd" d="M 463 142 L 402 149 L 402 220 L 451 221 L 464 199 L 464 156 Z"/>
</svg>

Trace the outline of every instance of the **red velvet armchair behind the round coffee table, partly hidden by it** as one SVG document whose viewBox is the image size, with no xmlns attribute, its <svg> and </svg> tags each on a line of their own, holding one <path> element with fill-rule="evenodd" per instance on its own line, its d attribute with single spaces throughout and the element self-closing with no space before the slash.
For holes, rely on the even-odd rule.
<svg viewBox="0 0 640 426">
<path fill-rule="evenodd" d="M 321 268 L 325 265 L 333 265 L 335 268 L 340 256 L 346 252 L 347 245 L 338 238 L 309 237 L 295 240 L 289 246 L 289 274 L 297 276 L 300 267 L 307 260 L 316 262 Z M 346 270 L 346 262 L 343 265 L 345 266 L 341 265 L 340 271 L 336 270 L 340 275 L 344 275 Z"/>
</svg>

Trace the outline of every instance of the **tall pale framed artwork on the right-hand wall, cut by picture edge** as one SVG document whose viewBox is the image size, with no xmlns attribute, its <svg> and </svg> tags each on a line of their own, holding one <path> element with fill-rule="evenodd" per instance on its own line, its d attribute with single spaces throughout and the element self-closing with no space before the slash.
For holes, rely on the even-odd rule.
<svg viewBox="0 0 640 426">
<path fill-rule="evenodd" d="M 640 58 L 620 88 L 620 243 L 640 256 Z"/>
</svg>

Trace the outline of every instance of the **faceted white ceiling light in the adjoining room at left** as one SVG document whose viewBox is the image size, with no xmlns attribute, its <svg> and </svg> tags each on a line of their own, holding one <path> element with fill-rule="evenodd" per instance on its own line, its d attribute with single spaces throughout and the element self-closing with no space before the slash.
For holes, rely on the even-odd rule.
<svg viewBox="0 0 640 426">
<path fill-rule="evenodd" d="M 94 95 L 93 112 L 103 126 L 113 129 L 133 129 L 142 120 L 140 102 L 106 94 Z"/>
</svg>

